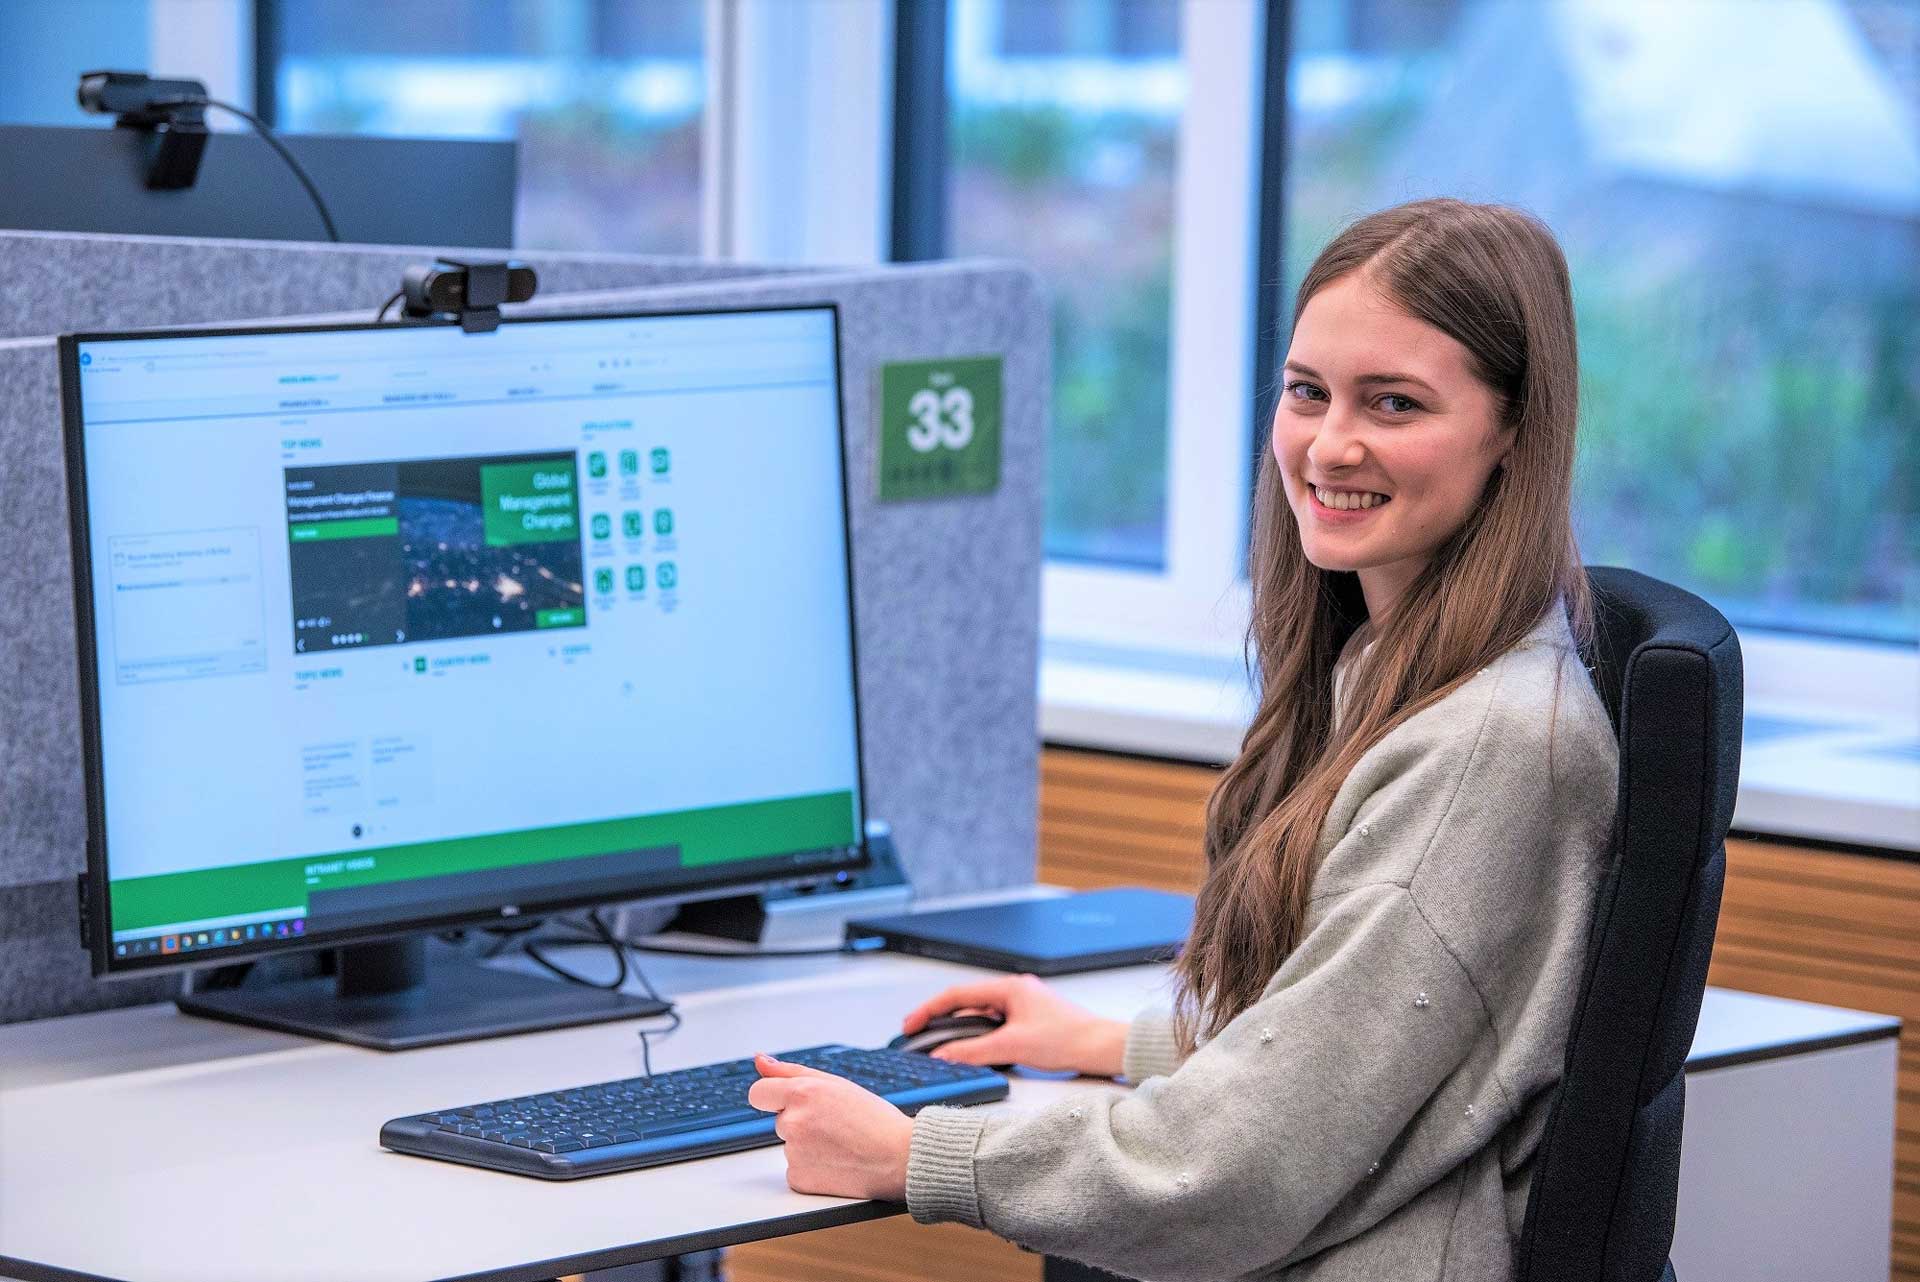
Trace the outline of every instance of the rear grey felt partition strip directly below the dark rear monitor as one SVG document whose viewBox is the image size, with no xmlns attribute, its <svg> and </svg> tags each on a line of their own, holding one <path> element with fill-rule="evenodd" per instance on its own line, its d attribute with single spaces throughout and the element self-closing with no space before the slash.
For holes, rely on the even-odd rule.
<svg viewBox="0 0 1920 1282">
<path fill-rule="evenodd" d="M 374 309 L 434 248 L 0 232 L 0 338 Z M 476 249 L 447 249 L 476 257 Z M 791 267 L 639 253 L 501 249 L 541 294 L 783 274 Z"/>
</svg>

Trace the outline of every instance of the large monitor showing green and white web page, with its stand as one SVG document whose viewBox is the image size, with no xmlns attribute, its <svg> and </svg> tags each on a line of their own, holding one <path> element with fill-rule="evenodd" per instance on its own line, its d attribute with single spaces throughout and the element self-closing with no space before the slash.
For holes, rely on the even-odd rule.
<svg viewBox="0 0 1920 1282">
<path fill-rule="evenodd" d="M 864 862 L 833 307 L 60 357 L 96 975 Z M 630 1013 L 397 969 L 382 1009 L 186 1002 L 367 1044 Z"/>
</svg>

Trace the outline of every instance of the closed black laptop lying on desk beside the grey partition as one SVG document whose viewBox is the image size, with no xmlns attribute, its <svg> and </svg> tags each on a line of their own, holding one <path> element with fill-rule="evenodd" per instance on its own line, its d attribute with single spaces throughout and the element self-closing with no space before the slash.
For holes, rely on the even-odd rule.
<svg viewBox="0 0 1920 1282">
<path fill-rule="evenodd" d="M 996 971 L 1073 975 L 1171 962 L 1192 923 L 1192 896 L 1123 887 L 849 921 L 847 938 Z"/>
</svg>

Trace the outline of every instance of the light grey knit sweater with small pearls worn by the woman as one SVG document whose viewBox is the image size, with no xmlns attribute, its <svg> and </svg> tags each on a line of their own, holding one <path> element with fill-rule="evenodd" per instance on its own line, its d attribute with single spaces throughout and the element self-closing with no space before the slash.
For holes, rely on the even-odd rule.
<svg viewBox="0 0 1920 1282">
<path fill-rule="evenodd" d="M 1185 1061 L 1139 1015 L 1129 1094 L 922 1111 L 914 1219 L 1156 1282 L 1509 1278 L 1617 760 L 1553 610 L 1359 760 L 1258 1004 Z"/>
</svg>

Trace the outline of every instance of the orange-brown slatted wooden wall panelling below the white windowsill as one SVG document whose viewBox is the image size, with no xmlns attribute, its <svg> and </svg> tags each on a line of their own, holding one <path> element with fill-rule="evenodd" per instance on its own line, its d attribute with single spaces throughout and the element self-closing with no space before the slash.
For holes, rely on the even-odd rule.
<svg viewBox="0 0 1920 1282">
<path fill-rule="evenodd" d="M 1041 879 L 1094 889 L 1200 883 L 1206 766 L 1048 748 Z M 1884 1011 L 1901 1040 L 1893 1274 L 1920 1280 L 1920 862 L 1732 841 L 1709 983 Z M 879 1221 L 739 1247 L 735 1282 L 1037 1282 L 987 1234 Z"/>
</svg>

